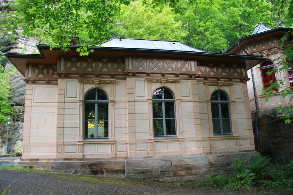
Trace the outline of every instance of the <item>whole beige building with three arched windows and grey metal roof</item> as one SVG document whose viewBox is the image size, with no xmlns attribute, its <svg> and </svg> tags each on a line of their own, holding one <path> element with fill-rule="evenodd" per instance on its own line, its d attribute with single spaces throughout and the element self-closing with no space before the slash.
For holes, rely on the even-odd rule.
<svg viewBox="0 0 293 195">
<path fill-rule="evenodd" d="M 27 83 L 22 165 L 188 181 L 255 149 L 247 70 L 263 56 L 122 38 L 83 57 L 37 47 L 6 54 Z"/>
</svg>

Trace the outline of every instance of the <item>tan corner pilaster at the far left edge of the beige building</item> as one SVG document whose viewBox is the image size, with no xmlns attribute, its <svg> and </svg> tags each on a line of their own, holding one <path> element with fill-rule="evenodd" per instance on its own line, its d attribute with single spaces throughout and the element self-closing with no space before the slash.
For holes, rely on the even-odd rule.
<svg viewBox="0 0 293 195">
<path fill-rule="evenodd" d="M 28 156 L 30 146 L 30 118 L 32 110 L 32 94 L 33 85 L 26 85 L 25 91 L 25 108 L 24 108 L 24 121 L 23 121 L 23 158 Z"/>
</svg>

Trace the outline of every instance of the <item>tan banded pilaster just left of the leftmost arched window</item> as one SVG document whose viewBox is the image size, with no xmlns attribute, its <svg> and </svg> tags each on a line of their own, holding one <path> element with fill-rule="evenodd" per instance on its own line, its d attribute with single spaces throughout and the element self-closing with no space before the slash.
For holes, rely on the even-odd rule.
<svg viewBox="0 0 293 195">
<path fill-rule="evenodd" d="M 65 79 L 58 80 L 57 96 L 57 129 L 56 129 L 56 158 L 61 158 L 64 144 L 64 99 L 65 99 Z"/>
</svg>

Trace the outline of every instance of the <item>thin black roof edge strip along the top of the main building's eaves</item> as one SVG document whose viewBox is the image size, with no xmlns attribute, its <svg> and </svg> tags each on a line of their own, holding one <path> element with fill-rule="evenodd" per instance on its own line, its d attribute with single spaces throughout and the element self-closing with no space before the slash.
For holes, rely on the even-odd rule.
<svg viewBox="0 0 293 195">
<path fill-rule="evenodd" d="M 68 49 L 79 48 L 78 45 L 67 46 Z M 16 53 L 5 53 L 6 57 L 17 57 L 17 58 L 44 58 L 41 49 L 50 49 L 48 45 L 37 45 L 40 54 L 16 54 Z M 230 57 L 238 59 L 250 59 L 250 60 L 262 60 L 263 56 L 247 56 L 239 54 L 219 54 L 209 52 L 196 52 L 196 51 L 172 51 L 172 50 L 155 50 L 155 49 L 130 49 L 130 48 L 115 48 L 115 47 L 93 47 L 94 51 L 125 51 L 125 52 L 148 52 L 156 54 L 181 54 L 181 55 L 193 55 L 193 56 L 207 56 L 207 57 Z M 60 50 L 58 48 L 54 50 Z"/>
</svg>

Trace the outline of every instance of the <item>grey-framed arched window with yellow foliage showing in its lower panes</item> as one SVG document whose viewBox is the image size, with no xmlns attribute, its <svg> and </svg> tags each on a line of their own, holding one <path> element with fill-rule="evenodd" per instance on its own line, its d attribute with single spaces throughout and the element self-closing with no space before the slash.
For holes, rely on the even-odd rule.
<svg viewBox="0 0 293 195">
<path fill-rule="evenodd" d="M 92 89 L 84 98 L 84 138 L 105 139 L 108 134 L 108 96 L 100 89 Z"/>
</svg>

